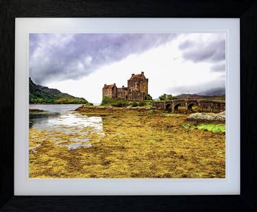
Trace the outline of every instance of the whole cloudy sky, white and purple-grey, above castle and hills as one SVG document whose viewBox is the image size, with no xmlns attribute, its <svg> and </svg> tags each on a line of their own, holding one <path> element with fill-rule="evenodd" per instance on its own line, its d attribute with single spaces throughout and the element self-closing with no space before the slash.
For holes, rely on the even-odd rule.
<svg viewBox="0 0 257 212">
<path fill-rule="evenodd" d="M 154 98 L 225 87 L 225 34 L 29 34 L 32 80 L 89 102 L 141 71 Z"/>
</svg>

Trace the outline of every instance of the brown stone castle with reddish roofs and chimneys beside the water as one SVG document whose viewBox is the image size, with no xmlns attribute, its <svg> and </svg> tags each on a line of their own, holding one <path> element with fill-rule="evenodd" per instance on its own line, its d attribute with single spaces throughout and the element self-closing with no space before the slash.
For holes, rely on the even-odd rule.
<svg viewBox="0 0 257 212">
<path fill-rule="evenodd" d="M 117 88 L 116 84 L 104 84 L 103 97 L 111 99 L 129 99 L 143 101 L 148 94 L 148 79 L 144 72 L 140 74 L 132 73 L 130 80 L 127 80 L 127 87 Z"/>
</svg>

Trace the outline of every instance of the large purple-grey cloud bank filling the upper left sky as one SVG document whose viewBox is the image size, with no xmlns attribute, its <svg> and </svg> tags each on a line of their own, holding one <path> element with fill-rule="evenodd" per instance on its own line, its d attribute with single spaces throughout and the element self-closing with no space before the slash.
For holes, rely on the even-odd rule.
<svg viewBox="0 0 257 212">
<path fill-rule="evenodd" d="M 29 75 L 43 84 L 82 78 L 99 67 L 140 54 L 177 34 L 29 34 Z"/>
</svg>

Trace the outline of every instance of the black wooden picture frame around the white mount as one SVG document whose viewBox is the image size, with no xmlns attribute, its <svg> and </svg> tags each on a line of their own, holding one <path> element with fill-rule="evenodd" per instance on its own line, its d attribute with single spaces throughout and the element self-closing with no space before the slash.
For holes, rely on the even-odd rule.
<svg viewBox="0 0 257 212">
<path fill-rule="evenodd" d="M 16 17 L 240 18 L 241 194 L 234 196 L 14 196 Z M 256 211 L 256 0 L 0 0 L 2 211 Z M 232 142 L 232 141 L 231 141 Z"/>
</svg>

